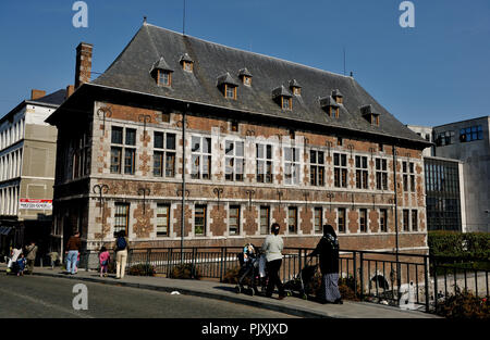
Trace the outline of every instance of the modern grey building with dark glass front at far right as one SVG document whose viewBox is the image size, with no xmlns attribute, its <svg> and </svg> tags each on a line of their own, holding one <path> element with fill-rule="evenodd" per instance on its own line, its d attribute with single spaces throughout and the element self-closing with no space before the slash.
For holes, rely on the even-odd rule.
<svg viewBox="0 0 490 340">
<path fill-rule="evenodd" d="M 430 164 L 426 165 L 426 182 L 436 189 L 426 188 L 429 230 L 490 231 L 489 119 L 486 116 L 436 127 L 408 126 L 434 142 L 424 151 Z M 454 187 L 457 181 L 460 188 Z M 461 227 L 456 228 L 460 218 Z"/>
</svg>

